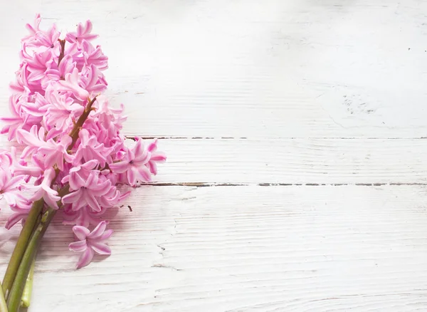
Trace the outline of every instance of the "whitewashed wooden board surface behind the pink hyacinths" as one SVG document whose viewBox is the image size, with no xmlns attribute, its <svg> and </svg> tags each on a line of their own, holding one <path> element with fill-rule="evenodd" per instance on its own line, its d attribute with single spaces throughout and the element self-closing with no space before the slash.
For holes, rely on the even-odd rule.
<svg viewBox="0 0 427 312">
<path fill-rule="evenodd" d="M 29 311 L 427 311 L 427 1 L 0 11 L 1 114 L 24 24 L 92 19 L 126 134 L 169 156 L 114 212 L 110 258 L 75 271 L 53 224 Z"/>
</svg>

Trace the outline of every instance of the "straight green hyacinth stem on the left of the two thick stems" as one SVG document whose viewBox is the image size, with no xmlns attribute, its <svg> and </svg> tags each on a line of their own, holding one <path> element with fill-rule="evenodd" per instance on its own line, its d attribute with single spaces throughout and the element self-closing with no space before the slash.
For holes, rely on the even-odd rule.
<svg viewBox="0 0 427 312">
<path fill-rule="evenodd" d="M 38 221 L 38 216 L 43 210 L 43 204 L 43 199 L 33 203 L 33 207 L 31 207 L 30 213 L 26 218 L 26 222 L 23 224 L 21 234 L 19 234 L 18 241 L 16 241 L 16 246 L 9 261 L 9 265 L 7 266 L 6 273 L 4 274 L 2 284 L 6 298 L 9 297 L 12 284 L 14 284 L 16 271 L 18 271 L 19 264 L 21 264 L 23 254 L 25 253 L 28 245 L 28 240 L 30 239 L 31 234 L 33 234 L 33 229 Z"/>
</svg>

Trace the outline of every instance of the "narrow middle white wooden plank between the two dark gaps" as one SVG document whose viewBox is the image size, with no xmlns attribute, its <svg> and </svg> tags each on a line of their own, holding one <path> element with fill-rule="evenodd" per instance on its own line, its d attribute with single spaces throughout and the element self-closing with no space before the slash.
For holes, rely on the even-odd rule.
<svg viewBox="0 0 427 312">
<path fill-rule="evenodd" d="M 426 183 L 426 140 L 160 140 L 154 182 Z"/>
</svg>

